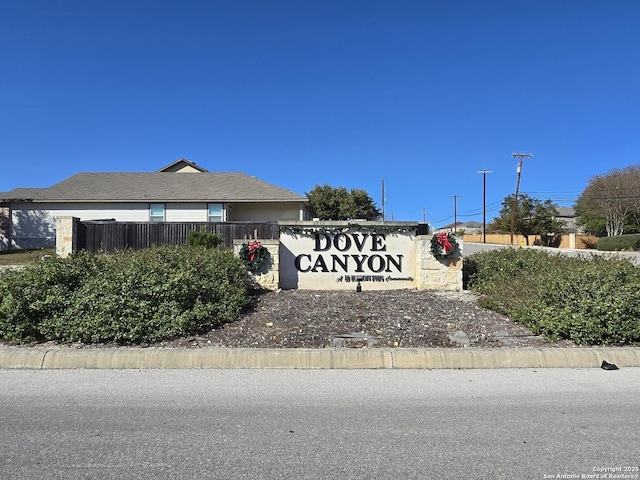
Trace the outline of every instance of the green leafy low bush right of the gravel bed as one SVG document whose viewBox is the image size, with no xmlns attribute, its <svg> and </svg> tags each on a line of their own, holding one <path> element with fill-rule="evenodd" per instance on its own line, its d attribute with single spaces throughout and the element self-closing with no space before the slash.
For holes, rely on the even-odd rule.
<svg viewBox="0 0 640 480">
<path fill-rule="evenodd" d="M 465 259 L 481 304 L 578 344 L 640 342 L 640 269 L 626 260 L 502 249 Z"/>
</svg>

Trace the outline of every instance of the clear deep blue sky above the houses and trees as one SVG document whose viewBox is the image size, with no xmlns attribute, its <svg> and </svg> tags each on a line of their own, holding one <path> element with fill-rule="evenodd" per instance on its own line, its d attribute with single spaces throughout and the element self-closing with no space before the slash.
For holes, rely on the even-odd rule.
<svg viewBox="0 0 640 480">
<path fill-rule="evenodd" d="M 640 158 L 640 2 L 0 3 L 0 191 L 187 158 L 388 219 L 571 206 Z"/>
</svg>

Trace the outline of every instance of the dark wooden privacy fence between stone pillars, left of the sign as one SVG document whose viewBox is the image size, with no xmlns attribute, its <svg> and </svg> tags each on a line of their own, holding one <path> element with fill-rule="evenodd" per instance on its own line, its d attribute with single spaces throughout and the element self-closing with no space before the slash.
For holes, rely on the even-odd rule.
<svg viewBox="0 0 640 480">
<path fill-rule="evenodd" d="M 153 245 L 186 245 L 192 230 L 216 233 L 222 246 L 231 248 L 234 239 L 277 239 L 278 224 L 273 222 L 112 222 L 77 221 L 77 249 L 87 252 L 110 253 L 130 248 L 140 250 Z"/>
</svg>

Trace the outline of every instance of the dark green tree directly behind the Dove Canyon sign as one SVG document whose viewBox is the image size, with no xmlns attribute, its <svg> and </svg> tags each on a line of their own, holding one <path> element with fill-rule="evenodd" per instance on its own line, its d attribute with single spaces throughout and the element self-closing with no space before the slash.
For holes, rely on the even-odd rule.
<svg viewBox="0 0 640 480">
<path fill-rule="evenodd" d="M 362 189 L 316 185 L 307 197 L 315 215 L 320 220 L 379 220 L 380 211 L 373 199 Z"/>
</svg>

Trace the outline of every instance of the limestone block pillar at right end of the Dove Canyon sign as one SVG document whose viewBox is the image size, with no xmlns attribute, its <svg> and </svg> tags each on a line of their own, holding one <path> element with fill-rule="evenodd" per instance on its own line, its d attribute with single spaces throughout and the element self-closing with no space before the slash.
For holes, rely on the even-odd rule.
<svg viewBox="0 0 640 480">
<path fill-rule="evenodd" d="M 460 255 L 438 260 L 431 253 L 431 236 L 416 237 L 416 288 L 418 290 L 462 290 L 463 241 L 456 239 Z"/>
</svg>

